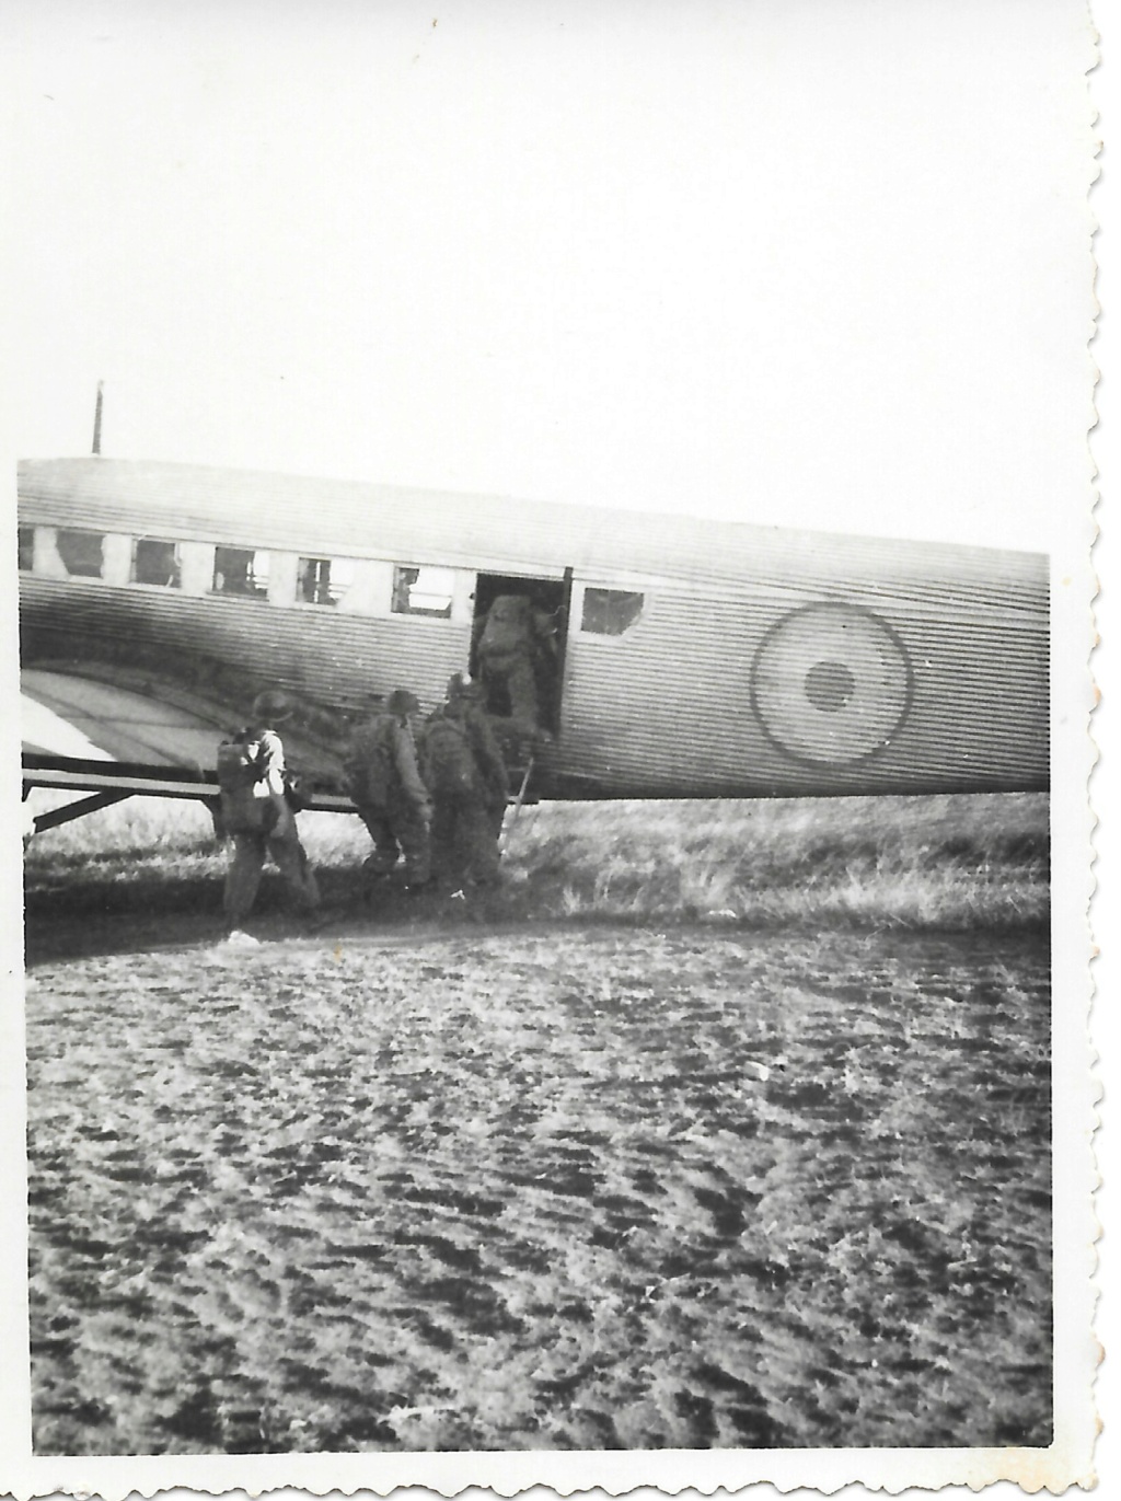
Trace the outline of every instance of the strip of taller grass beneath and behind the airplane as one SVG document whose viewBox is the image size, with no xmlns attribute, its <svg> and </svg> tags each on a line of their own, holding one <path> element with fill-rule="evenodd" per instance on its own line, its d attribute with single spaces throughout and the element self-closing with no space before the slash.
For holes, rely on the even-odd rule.
<svg viewBox="0 0 1121 1501">
<path fill-rule="evenodd" d="M 303 814 L 329 904 L 359 896 L 369 841 L 354 817 Z M 429 920 L 713 922 L 962 931 L 1046 925 L 1047 802 L 987 797 L 542 803 L 509 833 L 501 892 L 428 902 Z M 216 920 L 225 854 L 197 803 L 135 799 L 36 836 L 26 857 L 29 926 L 65 941 L 78 917 L 191 931 Z M 258 913 L 281 913 L 266 877 Z M 390 899 L 383 922 L 413 920 Z M 125 919 L 125 923 L 114 922 Z M 35 950 L 38 952 L 38 949 Z"/>
</svg>

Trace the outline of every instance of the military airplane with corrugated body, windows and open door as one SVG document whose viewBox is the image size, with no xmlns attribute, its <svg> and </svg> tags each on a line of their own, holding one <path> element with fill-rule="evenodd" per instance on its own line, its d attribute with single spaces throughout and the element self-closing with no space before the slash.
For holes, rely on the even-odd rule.
<svg viewBox="0 0 1121 1501">
<path fill-rule="evenodd" d="M 90 794 L 39 829 L 213 805 L 264 686 L 309 806 L 353 811 L 348 719 L 434 708 L 500 596 L 552 623 L 534 799 L 1047 788 L 1041 554 L 101 455 L 23 461 L 18 527 L 24 693 L 86 734 L 32 738 L 24 788 Z"/>
</svg>

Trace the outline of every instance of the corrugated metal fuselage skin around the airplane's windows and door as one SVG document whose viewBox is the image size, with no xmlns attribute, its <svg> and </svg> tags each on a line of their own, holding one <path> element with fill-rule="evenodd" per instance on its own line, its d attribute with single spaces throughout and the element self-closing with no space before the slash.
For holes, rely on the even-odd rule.
<svg viewBox="0 0 1121 1501">
<path fill-rule="evenodd" d="M 324 705 L 410 686 L 435 705 L 471 653 L 482 575 L 570 569 L 560 734 L 570 796 L 1037 790 L 1047 784 L 1046 558 L 813 537 L 684 518 L 533 507 L 377 486 L 107 459 L 21 465 L 27 639 L 198 653 Z M 455 575 L 447 618 L 227 597 L 39 566 L 53 528 L 285 563 L 345 557 Z M 131 543 L 126 542 L 131 539 Z M 35 551 L 39 548 L 39 552 Z M 206 563 L 206 558 L 204 558 Z M 294 563 L 293 563 L 294 566 Z M 641 596 L 620 633 L 585 594 Z"/>
</svg>

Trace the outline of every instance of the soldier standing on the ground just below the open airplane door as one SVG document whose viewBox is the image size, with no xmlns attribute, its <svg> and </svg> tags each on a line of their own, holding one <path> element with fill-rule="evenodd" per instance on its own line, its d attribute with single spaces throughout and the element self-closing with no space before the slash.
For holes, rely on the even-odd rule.
<svg viewBox="0 0 1121 1501">
<path fill-rule="evenodd" d="M 432 791 L 432 850 L 441 872 L 476 886 L 498 880 L 498 836 L 506 814 L 506 763 L 482 707 L 482 689 L 459 672 L 423 734 Z"/>
</svg>

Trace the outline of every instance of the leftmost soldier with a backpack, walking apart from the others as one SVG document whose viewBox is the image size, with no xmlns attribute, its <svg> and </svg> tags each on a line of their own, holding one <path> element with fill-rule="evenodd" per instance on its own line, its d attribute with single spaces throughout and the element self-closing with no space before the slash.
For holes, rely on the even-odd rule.
<svg viewBox="0 0 1121 1501">
<path fill-rule="evenodd" d="M 218 747 L 222 827 L 234 847 L 224 893 L 231 935 L 252 911 L 266 854 L 305 913 L 315 913 L 320 905 L 318 884 L 285 797 L 284 743 L 276 725 L 291 713 L 293 704 L 285 693 L 273 689 L 258 693 L 252 722 Z"/>
</svg>

